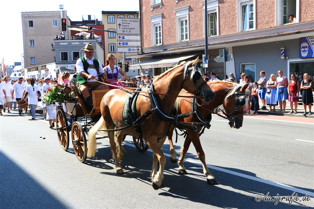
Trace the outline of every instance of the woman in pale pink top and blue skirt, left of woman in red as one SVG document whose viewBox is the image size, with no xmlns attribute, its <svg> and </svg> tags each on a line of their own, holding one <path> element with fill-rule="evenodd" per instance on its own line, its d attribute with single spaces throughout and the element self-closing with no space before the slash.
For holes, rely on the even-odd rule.
<svg viewBox="0 0 314 209">
<path fill-rule="evenodd" d="M 278 77 L 277 77 L 277 83 L 278 83 L 278 88 L 277 88 L 277 101 L 279 102 L 279 107 L 281 113 L 286 112 L 286 105 L 287 102 L 286 100 L 288 99 L 288 78 L 286 76 L 283 76 L 282 70 L 278 71 Z"/>
</svg>

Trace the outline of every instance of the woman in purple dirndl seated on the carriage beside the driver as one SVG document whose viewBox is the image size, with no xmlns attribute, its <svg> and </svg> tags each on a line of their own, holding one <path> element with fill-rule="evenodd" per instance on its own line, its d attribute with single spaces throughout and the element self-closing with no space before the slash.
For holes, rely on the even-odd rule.
<svg viewBox="0 0 314 209">
<path fill-rule="evenodd" d="M 106 78 L 110 80 L 118 80 L 118 75 L 120 73 L 122 75 L 122 78 L 120 80 L 127 79 L 127 74 L 119 66 L 115 65 L 115 61 L 115 55 L 108 54 L 105 64 L 106 66 L 103 68 L 106 73 Z M 119 81 L 106 80 L 106 83 L 114 85 L 109 86 L 110 89 L 118 89 L 120 86 L 125 87 L 125 85 Z"/>
</svg>

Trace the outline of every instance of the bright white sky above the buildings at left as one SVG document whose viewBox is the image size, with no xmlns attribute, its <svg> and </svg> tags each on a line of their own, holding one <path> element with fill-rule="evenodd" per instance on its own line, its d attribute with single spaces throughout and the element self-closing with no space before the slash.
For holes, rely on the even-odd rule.
<svg viewBox="0 0 314 209">
<path fill-rule="evenodd" d="M 86 5 L 86 2 L 93 2 Z M 95 3 L 94 3 L 95 2 Z M 95 15 L 101 19 L 101 11 L 139 11 L 139 0 L 30 0 L 2 1 L 0 12 L 0 61 L 5 65 L 14 65 L 21 61 L 23 54 L 23 34 L 21 12 L 60 11 L 59 4 L 67 11 L 72 21 L 81 21 L 82 15 Z"/>
</svg>

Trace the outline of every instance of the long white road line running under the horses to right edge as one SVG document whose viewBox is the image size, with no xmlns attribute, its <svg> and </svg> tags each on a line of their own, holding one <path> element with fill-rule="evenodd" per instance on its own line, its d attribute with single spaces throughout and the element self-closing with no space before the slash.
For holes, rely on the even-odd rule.
<svg viewBox="0 0 314 209">
<path fill-rule="evenodd" d="M 131 147 L 135 147 L 134 144 L 130 144 L 130 143 L 127 143 L 127 142 L 123 142 L 122 144 L 125 144 L 127 146 L 131 146 Z M 151 149 L 148 149 L 147 151 L 153 152 Z M 164 153 L 164 155 L 167 156 L 167 157 L 171 157 L 170 154 Z M 176 158 L 179 159 L 179 157 L 176 157 Z M 196 164 L 196 165 L 199 165 L 199 166 L 202 166 L 201 163 L 196 162 L 194 160 L 184 159 L 184 161 L 192 163 L 192 164 Z M 286 189 L 286 190 L 295 191 L 295 192 L 300 193 L 300 194 L 304 194 L 304 195 L 308 194 L 308 196 L 314 197 L 314 192 L 309 192 L 309 191 L 306 191 L 306 190 L 298 189 L 298 188 L 295 188 L 295 187 L 292 187 L 292 186 L 288 186 L 288 185 L 284 185 L 284 184 L 279 184 L 279 183 L 276 183 L 276 182 L 273 182 L 273 181 L 261 179 L 261 178 L 250 176 L 250 175 L 246 175 L 246 174 L 241 174 L 241 173 L 238 173 L 238 172 L 235 172 L 235 171 L 227 170 L 227 169 L 224 169 L 224 168 L 219 168 L 219 167 L 216 167 L 216 166 L 213 166 L 213 165 L 207 165 L 207 167 L 210 168 L 210 169 L 219 170 L 221 172 L 228 173 L 228 174 L 231 174 L 231 175 L 236 175 L 236 176 L 240 176 L 240 177 L 243 177 L 243 178 L 246 178 L 246 179 L 251 179 L 253 181 L 258 181 L 258 182 L 261 182 L 261 183 L 264 183 L 264 184 L 277 186 L 277 187 L 280 187 L 280 188 L 283 188 L 283 189 Z"/>
</svg>

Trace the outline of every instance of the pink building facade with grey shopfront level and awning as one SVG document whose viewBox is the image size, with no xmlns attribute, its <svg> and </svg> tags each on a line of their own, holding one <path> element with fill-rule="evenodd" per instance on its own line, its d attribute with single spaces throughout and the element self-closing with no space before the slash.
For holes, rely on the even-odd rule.
<svg viewBox="0 0 314 209">
<path fill-rule="evenodd" d="M 180 61 L 196 57 L 203 66 L 202 55 L 208 50 L 207 72 L 215 72 L 222 80 L 224 63 L 214 58 L 219 49 L 228 49 L 233 59 L 226 62 L 227 75 L 232 72 L 237 79 L 242 72 L 252 81 L 259 79 L 260 71 L 266 71 L 268 78 L 270 74 L 278 75 L 278 70 L 287 77 L 295 72 L 313 74 L 313 1 L 208 0 L 207 8 L 204 4 L 140 0 L 142 53 L 133 55 L 140 63 L 130 68 L 140 69 L 142 74 L 148 68 L 150 74 L 158 75 Z M 294 17 L 291 22 L 290 15 Z M 303 42 L 307 45 L 302 48 Z M 303 56 L 305 49 L 308 53 Z"/>
</svg>

